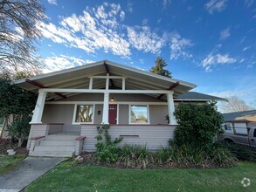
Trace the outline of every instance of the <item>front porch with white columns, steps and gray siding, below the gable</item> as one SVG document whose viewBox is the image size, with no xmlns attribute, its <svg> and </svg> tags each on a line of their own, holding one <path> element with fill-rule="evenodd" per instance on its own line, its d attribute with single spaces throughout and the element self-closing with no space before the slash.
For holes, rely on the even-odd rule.
<svg viewBox="0 0 256 192">
<path fill-rule="evenodd" d="M 45 102 L 46 95 L 50 92 L 80 94 L 70 97 L 70 100 Z M 146 94 L 152 92 L 166 94 L 168 102 L 149 101 L 150 97 Z M 176 119 L 172 95 L 173 91 L 166 90 L 40 89 L 27 147 L 31 155 L 47 155 L 42 153 L 44 150 L 71 149 L 74 154 L 91 152 L 95 150 L 96 127 L 108 124 L 111 126 L 110 134 L 113 138 L 123 137 L 123 144 L 147 143 L 150 149 L 156 150 L 167 146 L 168 140 L 173 137 Z M 95 100 L 88 101 L 89 97 Z M 80 98 L 87 100 L 78 101 Z M 142 101 L 144 99 L 146 101 Z M 165 120 L 167 114 L 170 122 Z M 66 140 L 69 141 L 68 146 L 64 142 Z M 54 147 L 48 146 L 46 142 L 54 144 Z M 35 152 L 38 149 L 40 153 Z"/>
</svg>

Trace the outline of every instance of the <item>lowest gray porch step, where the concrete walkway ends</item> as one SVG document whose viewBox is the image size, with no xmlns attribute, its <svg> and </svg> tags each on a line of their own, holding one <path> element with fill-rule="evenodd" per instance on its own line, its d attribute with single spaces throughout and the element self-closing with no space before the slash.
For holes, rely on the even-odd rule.
<svg viewBox="0 0 256 192">
<path fill-rule="evenodd" d="M 71 151 L 31 151 L 30 156 L 44 157 L 72 157 L 74 152 Z"/>
</svg>

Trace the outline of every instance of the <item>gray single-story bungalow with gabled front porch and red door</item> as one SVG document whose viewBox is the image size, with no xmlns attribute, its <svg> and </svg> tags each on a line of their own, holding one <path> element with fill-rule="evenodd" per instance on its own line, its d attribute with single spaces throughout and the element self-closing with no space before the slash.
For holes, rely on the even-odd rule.
<svg viewBox="0 0 256 192">
<path fill-rule="evenodd" d="M 176 128 L 178 102 L 225 100 L 188 92 L 196 85 L 110 61 L 15 81 L 38 93 L 31 120 L 31 155 L 71 156 L 95 151 L 96 127 L 109 124 L 122 144 L 166 147 Z M 170 117 L 170 124 L 165 120 Z"/>
</svg>

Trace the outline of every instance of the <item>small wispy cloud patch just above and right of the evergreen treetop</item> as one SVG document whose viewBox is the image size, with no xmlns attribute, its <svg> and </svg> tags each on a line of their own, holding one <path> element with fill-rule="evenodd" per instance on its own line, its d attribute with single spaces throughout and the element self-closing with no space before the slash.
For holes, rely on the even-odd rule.
<svg viewBox="0 0 256 192">
<path fill-rule="evenodd" d="M 193 45 L 190 39 L 182 38 L 177 33 L 173 34 L 170 39 L 170 59 L 192 57 L 192 54 L 186 51 L 187 47 Z"/>
</svg>

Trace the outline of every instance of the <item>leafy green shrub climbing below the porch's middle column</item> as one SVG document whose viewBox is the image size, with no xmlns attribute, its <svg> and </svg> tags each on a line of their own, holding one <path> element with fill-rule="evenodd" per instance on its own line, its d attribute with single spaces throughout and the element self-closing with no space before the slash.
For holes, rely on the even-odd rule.
<svg viewBox="0 0 256 192">
<path fill-rule="evenodd" d="M 115 138 L 112 141 L 111 135 L 108 134 L 108 129 L 108 125 L 97 127 L 98 135 L 95 137 L 97 139 L 95 155 L 98 161 L 113 163 L 119 158 L 120 147 L 117 147 L 117 144 L 122 141 L 122 138 Z"/>
</svg>

